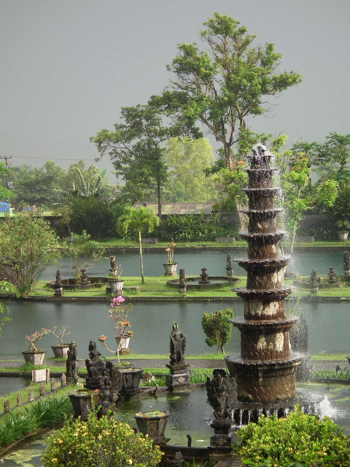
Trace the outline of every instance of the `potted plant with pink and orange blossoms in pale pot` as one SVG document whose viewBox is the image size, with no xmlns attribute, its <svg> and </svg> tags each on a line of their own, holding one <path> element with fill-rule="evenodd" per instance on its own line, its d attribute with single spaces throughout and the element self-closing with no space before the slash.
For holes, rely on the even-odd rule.
<svg viewBox="0 0 350 467">
<path fill-rule="evenodd" d="M 115 340 L 117 341 L 117 350 L 111 350 L 106 345 L 107 337 L 102 334 L 98 337 L 98 340 L 101 344 L 112 352 L 113 354 L 117 354 L 118 362 L 119 362 L 119 353 L 120 354 L 128 354 L 130 353 L 129 349 L 129 341 L 130 338 L 133 337 L 133 332 L 131 329 L 128 331 L 127 328 L 130 327 L 130 321 L 127 320 L 127 315 L 132 310 L 131 304 L 129 303 L 127 306 L 123 305 L 122 303 L 125 302 L 125 298 L 121 295 L 119 297 L 114 297 L 111 303 L 111 309 L 108 311 L 108 318 L 112 318 L 114 323 L 114 329 L 116 330 Z"/>
</svg>

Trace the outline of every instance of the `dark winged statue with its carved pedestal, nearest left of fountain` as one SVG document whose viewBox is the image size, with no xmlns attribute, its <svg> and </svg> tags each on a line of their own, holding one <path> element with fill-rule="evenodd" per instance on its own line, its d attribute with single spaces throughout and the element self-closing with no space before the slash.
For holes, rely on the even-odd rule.
<svg viewBox="0 0 350 467">
<path fill-rule="evenodd" d="M 231 451 L 233 433 L 231 432 L 231 407 L 226 384 L 228 376 L 224 368 L 215 368 L 213 378 L 207 376 L 205 386 L 207 388 L 208 402 L 213 408 L 213 421 L 210 424 L 214 428 L 214 435 L 210 436 L 210 448 L 220 451 Z"/>
</svg>

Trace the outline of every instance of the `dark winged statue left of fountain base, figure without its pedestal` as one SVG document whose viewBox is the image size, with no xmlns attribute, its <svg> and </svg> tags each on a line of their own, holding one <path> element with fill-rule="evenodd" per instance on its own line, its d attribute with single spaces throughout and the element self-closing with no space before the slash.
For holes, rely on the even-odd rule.
<svg viewBox="0 0 350 467">
<path fill-rule="evenodd" d="M 213 379 L 207 376 L 205 386 L 207 388 L 208 402 L 213 408 L 214 421 L 224 422 L 231 420 L 231 407 L 229 395 L 226 392 L 228 376 L 223 368 L 213 370 Z"/>
</svg>

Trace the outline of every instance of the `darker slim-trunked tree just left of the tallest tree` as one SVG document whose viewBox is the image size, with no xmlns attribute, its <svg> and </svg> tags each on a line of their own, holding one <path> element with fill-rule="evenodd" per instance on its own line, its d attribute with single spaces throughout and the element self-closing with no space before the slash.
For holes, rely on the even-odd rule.
<svg viewBox="0 0 350 467">
<path fill-rule="evenodd" d="M 96 144 L 100 158 L 107 152 L 116 170 L 126 182 L 140 187 L 142 174 L 148 184 L 157 189 L 158 215 L 161 215 L 161 187 L 168 178 L 168 166 L 163 160 L 163 144 L 182 132 L 182 125 L 166 125 L 161 108 L 156 105 L 121 107 L 121 123 L 114 131 L 103 129 L 90 138 Z M 132 170 L 128 170 L 132 166 Z"/>
</svg>

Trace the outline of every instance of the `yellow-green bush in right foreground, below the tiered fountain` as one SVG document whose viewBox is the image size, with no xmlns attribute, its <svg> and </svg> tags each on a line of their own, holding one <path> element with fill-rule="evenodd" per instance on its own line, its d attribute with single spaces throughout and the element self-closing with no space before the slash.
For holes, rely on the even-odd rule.
<svg viewBox="0 0 350 467">
<path fill-rule="evenodd" d="M 252 466 L 350 466 L 350 440 L 333 420 L 306 415 L 261 417 L 238 430 L 237 453 Z"/>
</svg>

